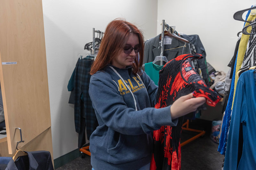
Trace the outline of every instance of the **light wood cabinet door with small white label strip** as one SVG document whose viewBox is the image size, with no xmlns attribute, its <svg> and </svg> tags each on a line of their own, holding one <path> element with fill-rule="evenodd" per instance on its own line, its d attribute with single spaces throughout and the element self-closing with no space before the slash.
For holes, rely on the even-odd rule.
<svg viewBox="0 0 256 170">
<path fill-rule="evenodd" d="M 41 0 L 0 0 L 0 82 L 9 154 L 51 126 Z"/>
</svg>

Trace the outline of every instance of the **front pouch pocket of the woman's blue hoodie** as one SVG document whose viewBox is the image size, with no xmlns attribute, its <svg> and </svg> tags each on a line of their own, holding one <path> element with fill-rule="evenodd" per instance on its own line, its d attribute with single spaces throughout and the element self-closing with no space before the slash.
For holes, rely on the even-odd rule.
<svg viewBox="0 0 256 170">
<path fill-rule="evenodd" d="M 118 152 L 121 148 L 122 145 L 124 144 L 124 134 L 121 134 L 119 132 L 116 132 L 113 129 L 108 129 L 108 149 L 107 152 L 108 154 L 115 154 Z"/>
</svg>

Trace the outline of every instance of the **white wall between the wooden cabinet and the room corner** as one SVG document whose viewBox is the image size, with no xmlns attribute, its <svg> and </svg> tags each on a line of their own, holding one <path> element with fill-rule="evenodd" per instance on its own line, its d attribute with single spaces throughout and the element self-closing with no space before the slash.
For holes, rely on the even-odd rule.
<svg viewBox="0 0 256 170">
<path fill-rule="evenodd" d="M 149 10 L 154 9 L 154 10 Z M 44 32 L 52 120 L 53 158 L 77 149 L 74 107 L 68 104 L 68 80 L 77 55 L 88 53 L 92 28 L 104 31 L 115 18 L 136 24 L 145 39 L 156 36 L 156 0 L 43 0 Z"/>
</svg>

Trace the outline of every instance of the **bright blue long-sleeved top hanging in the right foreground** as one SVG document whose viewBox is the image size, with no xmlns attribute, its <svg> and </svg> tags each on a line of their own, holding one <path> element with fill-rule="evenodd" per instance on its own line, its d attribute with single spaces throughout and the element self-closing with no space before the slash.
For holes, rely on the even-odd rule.
<svg viewBox="0 0 256 170">
<path fill-rule="evenodd" d="M 255 70 L 248 70 L 238 79 L 234 107 L 228 132 L 227 150 L 225 154 L 224 170 L 254 169 L 256 167 L 256 74 Z M 239 129 L 242 128 L 242 133 Z M 239 141 L 239 137 L 242 140 Z M 242 145 L 239 159 L 239 144 Z"/>
</svg>

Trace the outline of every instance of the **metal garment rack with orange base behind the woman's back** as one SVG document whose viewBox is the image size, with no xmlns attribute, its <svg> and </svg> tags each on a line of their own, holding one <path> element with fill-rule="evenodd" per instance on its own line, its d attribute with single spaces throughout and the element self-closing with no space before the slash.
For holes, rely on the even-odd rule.
<svg viewBox="0 0 256 170">
<path fill-rule="evenodd" d="M 104 32 L 102 32 L 100 30 L 95 30 L 95 28 L 92 28 L 92 43 L 87 43 L 85 45 L 85 47 L 84 47 L 84 49 L 91 51 L 91 55 L 89 55 L 89 56 L 94 56 L 94 60 L 96 58 L 96 55 L 95 55 L 95 43 L 100 43 L 100 41 L 99 41 L 100 39 L 98 37 L 95 38 L 95 33 L 98 33 L 99 35 L 101 35 L 101 37 L 103 37 L 103 34 L 104 34 Z M 92 46 L 92 47 L 90 47 L 90 46 Z M 82 158 L 84 158 L 84 155 L 83 155 L 84 153 L 86 155 L 91 156 L 91 152 L 88 151 L 89 147 L 90 147 L 90 145 L 82 147 L 82 148 L 79 149 L 79 151 L 82 153 Z"/>
</svg>

